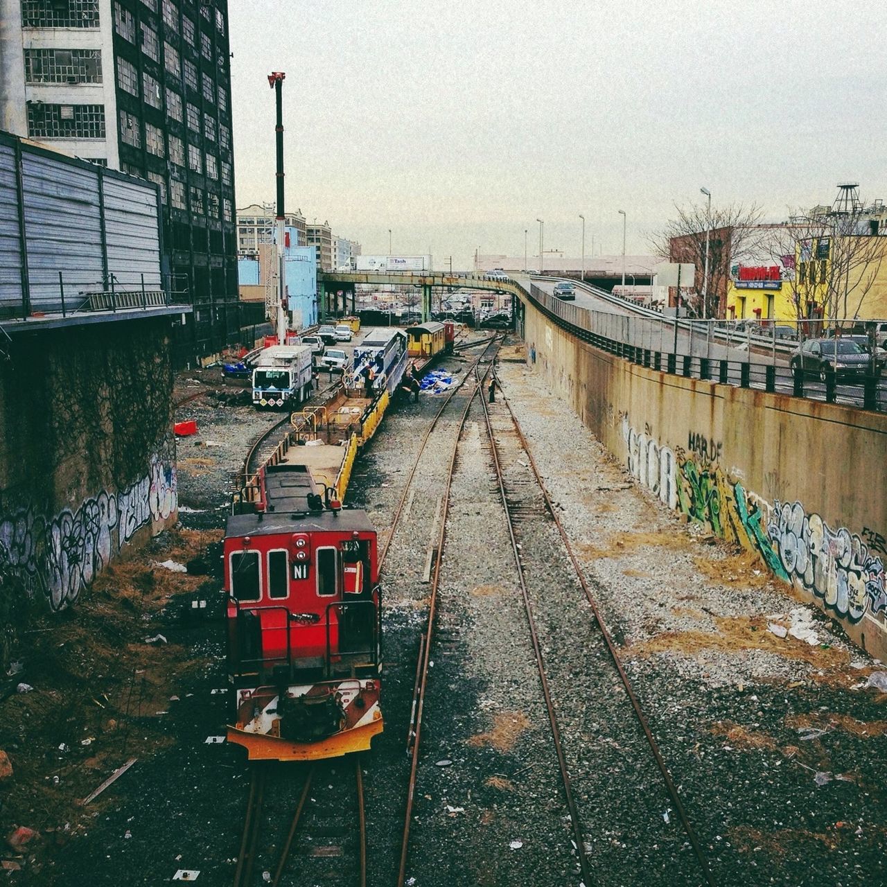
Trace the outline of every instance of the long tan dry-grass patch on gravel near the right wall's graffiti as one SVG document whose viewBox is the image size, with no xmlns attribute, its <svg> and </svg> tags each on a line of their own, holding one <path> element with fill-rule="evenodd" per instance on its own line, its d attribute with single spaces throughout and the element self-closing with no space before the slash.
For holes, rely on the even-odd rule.
<svg viewBox="0 0 887 887">
<path fill-rule="evenodd" d="M 767 631 L 764 616 L 721 616 L 716 617 L 715 623 L 714 632 L 663 632 L 649 640 L 630 643 L 625 647 L 625 654 L 644 656 L 668 652 L 692 656 L 705 650 L 741 654 L 744 650 L 757 649 L 810 663 L 823 671 L 816 678 L 824 682 L 847 687 L 859 679 L 861 672 L 848 674 L 850 655 L 846 650 L 811 647 L 803 640 L 790 637 L 777 638 Z"/>
</svg>

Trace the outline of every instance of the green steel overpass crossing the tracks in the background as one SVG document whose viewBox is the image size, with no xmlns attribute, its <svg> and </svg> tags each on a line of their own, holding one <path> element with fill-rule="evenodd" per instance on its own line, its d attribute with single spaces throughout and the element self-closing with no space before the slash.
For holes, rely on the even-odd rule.
<svg viewBox="0 0 887 887">
<path fill-rule="evenodd" d="M 435 287 L 485 289 L 492 293 L 507 293 L 515 297 L 523 292 L 522 287 L 513 279 L 489 274 L 452 274 L 443 273 L 443 271 L 319 271 L 320 317 L 325 318 L 328 313 L 334 311 L 347 311 L 349 295 L 353 312 L 355 310 L 354 288 L 358 283 L 371 284 L 376 287 L 385 284 L 420 287 L 422 290 L 423 322 L 431 319 L 431 292 Z"/>
</svg>

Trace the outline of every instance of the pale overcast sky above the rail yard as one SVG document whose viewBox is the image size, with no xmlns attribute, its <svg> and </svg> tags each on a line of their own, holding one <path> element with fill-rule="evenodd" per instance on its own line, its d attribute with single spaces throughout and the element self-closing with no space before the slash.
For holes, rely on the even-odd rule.
<svg viewBox="0 0 887 887">
<path fill-rule="evenodd" d="M 770 221 L 887 198 L 887 7 L 796 0 L 229 0 L 237 205 L 273 200 L 365 254 L 467 268 L 529 229 L 579 255 L 648 251 L 675 202 Z"/>
</svg>

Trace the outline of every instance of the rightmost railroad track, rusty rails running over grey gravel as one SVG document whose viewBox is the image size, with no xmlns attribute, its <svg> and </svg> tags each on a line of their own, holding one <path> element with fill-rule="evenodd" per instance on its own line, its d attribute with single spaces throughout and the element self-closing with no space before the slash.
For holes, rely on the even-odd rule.
<svg viewBox="0 0 887 887">
<path fill-rule="evenodd" d="M 705 883 L 714 884 L 715 882 L 711 875 L 709 863 L 703 851 L 702 843 L 695 832 L 695 828 L 687 817 L 687 812 L 681 802 L 677 785 L 671 776 L 668 766 L 665 764 L 662 752 L 650 729 L 648 718 L 634 692 L 632 682 L 624 670 L 623 663 L 616 649 L 616 644 L 610 636 L 606 624 L 604 624 L 600 609 L 594 599 L 591 586 L 585 577 L 585 571 L 577 560 L 576 553 L 570 544 L 567 532 L 557 514 L 557 510 L 553 506 L 546 485 L 539 474 L 536 460 L 533 458 L 530 451 L 530 445 L 523 435 L 521 425 L 517 420 L 517 417 L 514 415 L 511 405 L 508 404 L 504 396 L 500 397 L 498 403 L 495 405 L 488 405 L 482 397 L 481 404 L 483 407 L 483 420 L 487 433 L 488 452 L 490 453 L 492 466 L 495 471 L 499 496 L 506 514 L 508 535 L 511 540 L 512 554 L 514 557 L 514 567 L 521 587 L 524 609 L 530 626 L 530 636 L 538 664 L 539 677 L 542 681 L 546 709 L 551 724 L 553 747 L 557 755 L 564 795 L 569 808 L 570 824 L 573 829 L 577 860 L 581 869 L 583 883 L 585 883 L 586 887 L 591 887 L 591 884 L 598 883 L 599 879 L 593 877 L 588 856 L 585 852 L 587 846 L 586 839 L 588 836 L 584 833 L 582 822 L 577 811 L 576 801 L 573 797 L 567 760 L 564 754 L 564 743 L 561 740 L 561 730 L 549 688 L 545 658 L 538 640 L 535 608 L 525 581 L 524 564 L 528 562 L 532 563 L 532 553 L 530 551 L 530 546 L 526 544 L 522 546 L 520 542 L 521 538 L 525 537 L 524 530 L 527 528 L 527 525 L 531 522 L 539 522 L 542 520 L 553 522 L 557 529 L 563 549 L 569 557 L 571 569 L 575 573 L 577 583 L 581 586 L 583 593 L 585 594 L 585 600 L 593 615 L 593 624 L 596 626 L 597 631 L 600 632 L 600 638 L 604 641 L 607 647 L 609 657 L 618 672 L 619 679 L 632 704 L 633 714 L 646 737 L 649 749 L 655 759 L 655 764 L 662 775 L 664 787 L 671 797 L 675 812 L 678 813 L 681 825 L 687 834 L 687 839 L 693 847 L 700 867 L 702 867 Z M 506 464 L 507 471 L 505 467 Z M 551 553 L 546 553 L 546 558 L 550 559 L 550 557 Z"/>
</svg>

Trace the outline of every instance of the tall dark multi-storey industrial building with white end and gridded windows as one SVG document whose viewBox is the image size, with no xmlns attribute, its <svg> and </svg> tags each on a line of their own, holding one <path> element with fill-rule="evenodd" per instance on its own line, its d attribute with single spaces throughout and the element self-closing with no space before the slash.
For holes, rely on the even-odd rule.
<svg viewBox="0 0 887 887">
<path fill-rule="evenodd" d="M 0 0 L 0 122 L 156 184 L 178 362 L 237 341 L 226 0 Z"/>
</svg>

